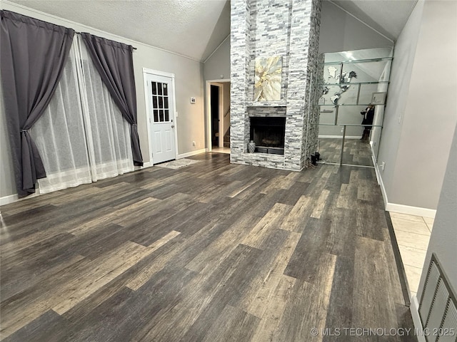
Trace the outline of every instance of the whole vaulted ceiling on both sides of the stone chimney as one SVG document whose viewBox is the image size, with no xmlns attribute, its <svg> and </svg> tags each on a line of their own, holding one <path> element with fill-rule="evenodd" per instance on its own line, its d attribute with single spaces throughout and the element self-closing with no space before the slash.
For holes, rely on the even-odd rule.
<svg viewBox="0 0 457 342">
<path fill-rule="evenodd" d="M 283 0 L 280 0 L 283 1 Z M 417 0 L 326 0 L 395 41 Z M 229 0 L 10 0 L 205 61 L 230 33 Z"/>
</svg>

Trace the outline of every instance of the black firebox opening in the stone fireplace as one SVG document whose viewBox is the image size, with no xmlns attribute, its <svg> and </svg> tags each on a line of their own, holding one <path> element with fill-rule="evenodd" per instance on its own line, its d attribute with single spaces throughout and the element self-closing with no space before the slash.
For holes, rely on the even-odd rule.
<svg viewBox="0 0 457 342">
<path fill-rule="evenodd" d="M 284 154 L 286 118 L 251 117 L 251 140 L 256 143 L 255 152 Z"/>
</svg>

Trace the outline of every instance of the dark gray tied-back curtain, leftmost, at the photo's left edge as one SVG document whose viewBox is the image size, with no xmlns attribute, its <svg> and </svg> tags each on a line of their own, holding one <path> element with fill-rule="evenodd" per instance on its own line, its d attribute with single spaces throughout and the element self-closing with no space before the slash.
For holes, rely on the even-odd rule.
<svg viewBox="0 0 457 342">
<path fill-rule="evenodd" d="M 16 188 L 35 192 L 46 177 L 29 129 L 44 113 L 61 78 L 74 30 L 11 11 L 1 11 L 1 82 Z"/>
</svg>

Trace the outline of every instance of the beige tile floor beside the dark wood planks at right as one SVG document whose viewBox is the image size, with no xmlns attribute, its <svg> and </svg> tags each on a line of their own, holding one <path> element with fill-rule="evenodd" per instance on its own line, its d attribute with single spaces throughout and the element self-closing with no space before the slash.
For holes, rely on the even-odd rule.
<svg viewBox="0 0 457 342">
<path fill-rule="evenodd" d="M 389 212 L 411 296 L 417 295 L 433 219 Z"/>
</svg>

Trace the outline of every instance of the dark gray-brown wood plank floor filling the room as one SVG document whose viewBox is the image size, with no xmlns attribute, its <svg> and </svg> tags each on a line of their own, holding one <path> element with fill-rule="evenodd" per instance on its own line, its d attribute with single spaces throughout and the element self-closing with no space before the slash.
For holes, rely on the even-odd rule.
<svg viewBox="0 0 457 342">
<path fill-rule="evenodd" d="M 1 339 L 416 341 L 373 169 L 193 159 L 1 207 Z"/>
</svg>

